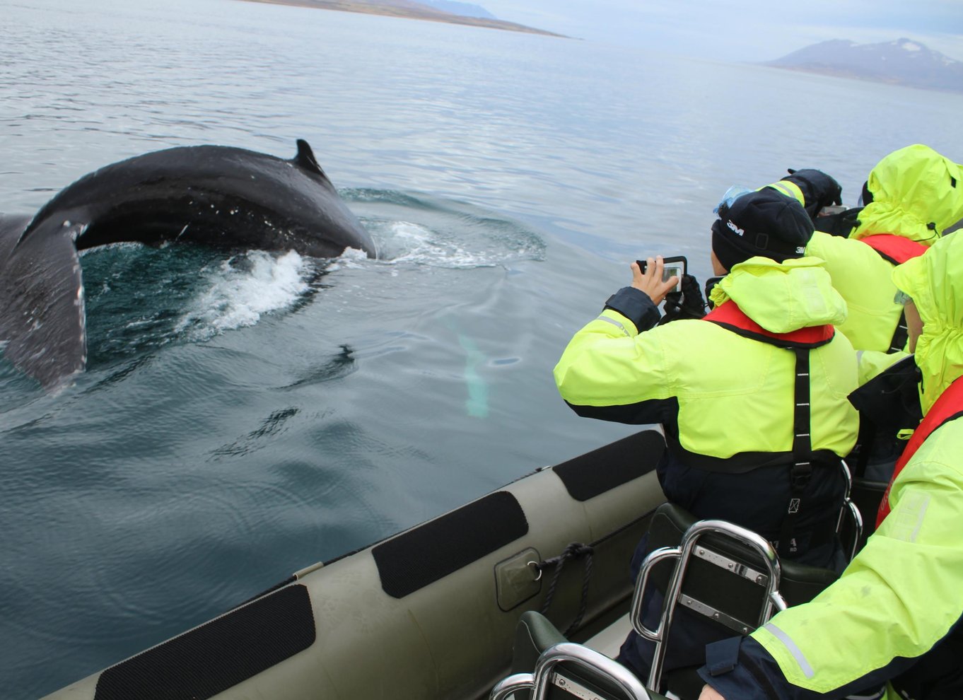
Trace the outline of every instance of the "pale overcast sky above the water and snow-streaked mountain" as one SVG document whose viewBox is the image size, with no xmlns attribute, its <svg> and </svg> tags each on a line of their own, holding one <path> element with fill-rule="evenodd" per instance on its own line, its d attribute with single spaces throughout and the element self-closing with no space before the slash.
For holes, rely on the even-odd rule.
<svg viewBox="0 0 963 700">
<path fill-rule="evenodd" d="M 905 37 L 963 61 L 963 0 L 467 0 L 570 37 L 724 61 L 768 61 L 826 39 Z"/>
</svg>

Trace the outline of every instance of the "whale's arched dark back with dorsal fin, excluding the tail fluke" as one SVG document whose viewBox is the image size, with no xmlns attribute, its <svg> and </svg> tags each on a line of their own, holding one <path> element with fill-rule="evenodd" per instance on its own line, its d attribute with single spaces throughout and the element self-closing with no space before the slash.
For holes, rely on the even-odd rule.
<svg viewBox="0 0 963 700">
<path fill-rule="evenodd" d="M 292 160 L 201 145 L 106 166 L 51 199 L 24 238 L 45 226 L 56 230 L 64 220 L 87 224 L 76 242 L 81 249 L 181 241 L 295 249 L 316 257 L 340 255 L 346 247 L 376 254 L 305 142 Z"/>
</svg>

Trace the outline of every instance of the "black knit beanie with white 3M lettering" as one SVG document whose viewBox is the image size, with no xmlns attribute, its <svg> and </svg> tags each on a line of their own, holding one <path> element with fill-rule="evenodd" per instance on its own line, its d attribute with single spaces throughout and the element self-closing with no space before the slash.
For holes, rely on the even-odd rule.
<svg viewBox="0 0 963 700">
<path fill-rule="evenodd" d="M 756 255 L 781 263 L 806 254 L 813 221 L 792 197 L 763 188 L 718 210 L 713 252 L 726 270 Z"/>
</svg>

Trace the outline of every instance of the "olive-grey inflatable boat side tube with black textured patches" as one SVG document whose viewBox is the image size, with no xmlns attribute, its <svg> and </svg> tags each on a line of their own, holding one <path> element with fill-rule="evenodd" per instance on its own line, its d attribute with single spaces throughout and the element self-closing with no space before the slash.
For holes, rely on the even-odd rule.
<svg viewBox="0 0 963 700">
<path fill-rule="evenodd" d="M 537 469 L 47 698 L 486 698 L 532 610 L 612 657 L 631 627 L 630 558 L 664 502 L 664 447 L 642 430 Z M 879 489 L 865 493 L 874 507 Z"/>
</svg>

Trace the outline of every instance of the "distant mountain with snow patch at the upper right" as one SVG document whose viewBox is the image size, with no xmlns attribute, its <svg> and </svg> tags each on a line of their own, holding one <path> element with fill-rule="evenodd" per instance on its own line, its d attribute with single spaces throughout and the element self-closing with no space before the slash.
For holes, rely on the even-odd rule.
<svg viewBox="0 0 963 700">
<path fill-rule="evenodd" d="M 963 92 L 963 63 L 911 39 L 863 44 L 832 39 L 766 65 L 913 88 Z"/>
</svg>

